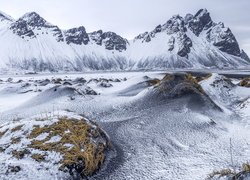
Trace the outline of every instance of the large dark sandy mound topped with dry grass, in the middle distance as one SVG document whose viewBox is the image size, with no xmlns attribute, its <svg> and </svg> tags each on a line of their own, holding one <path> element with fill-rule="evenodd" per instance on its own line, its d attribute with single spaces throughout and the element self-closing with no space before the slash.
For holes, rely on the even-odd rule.
<svg viewBox="0 0 250 180">
<path fill-rule="evenodd" d="M 167 74 L 149 92 L 149 97 L 157 102 L 175 98 L 190 98 L 191 108 L 209 107 L 221 110 L 202 89 L 198 81 L 190 74 Z"/>
</svg>

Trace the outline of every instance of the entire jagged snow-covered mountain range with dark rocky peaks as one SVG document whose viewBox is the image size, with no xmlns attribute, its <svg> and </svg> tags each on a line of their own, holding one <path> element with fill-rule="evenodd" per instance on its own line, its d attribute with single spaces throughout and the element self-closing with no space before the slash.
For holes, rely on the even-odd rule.
<svg viewBox="0 0 250 180">
<path fill-rule="evenodd" d="M 175 15 L 133 40 L 83 26 L 62 30 L 35 12 L 15 20 L 0 12 L 0 68 L 90 71 L 167 68 L 238 68 L 247 54 L 223 23 L 206 9 Z"/>
</svg>

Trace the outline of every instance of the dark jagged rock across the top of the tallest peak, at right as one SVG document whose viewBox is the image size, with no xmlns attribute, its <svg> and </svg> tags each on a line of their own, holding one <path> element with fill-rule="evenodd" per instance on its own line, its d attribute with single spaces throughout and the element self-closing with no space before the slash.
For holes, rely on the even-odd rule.
<svg viewBox="0 0 250 180">
<path fill-rule="evenodd" d="M 246 54 L 241 53 L 239 44 L 231 30 L 224 27 L 223 23 L 214 23 L 206 9 L 199 10 L 195 15 L 187 14 L 185 18 L 179 15 L 173 16 L 165 24 L 158 25 L 153 31 L 138 35 L 134 41 L 150 42 L 157 33 L 165 32 L 172 35 L 167 42 L 168 51 L 178 48 L 177 54 L 188 58 L 193 43 L 187 35 L 187 29 L 190 29 L 196 36 L 202 32 L 206 33 L 207 41 L 222 52 L 249 60 Z"/>
</svg>

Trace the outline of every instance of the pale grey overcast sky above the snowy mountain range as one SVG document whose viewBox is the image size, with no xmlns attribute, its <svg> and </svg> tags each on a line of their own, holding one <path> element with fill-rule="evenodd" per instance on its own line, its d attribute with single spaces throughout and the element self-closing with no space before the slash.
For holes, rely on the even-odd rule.
<svg viewBox="0 0 250 180">
<path fill-rule="evenodd" d="M 230 27 L 250 55 L 250 0 L 0 0 L 0 10 L 14 18 L 36 11 L 63 29 L 83 25 L 88 32 L 114 31 L 127 39 L 201 8 Z"/>
</svg>

